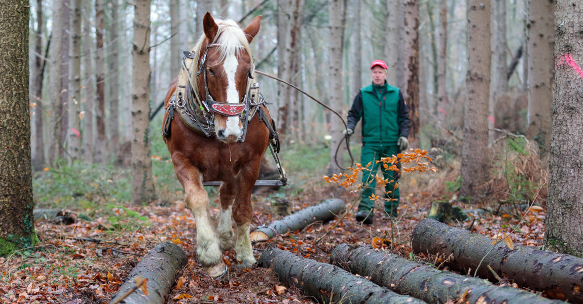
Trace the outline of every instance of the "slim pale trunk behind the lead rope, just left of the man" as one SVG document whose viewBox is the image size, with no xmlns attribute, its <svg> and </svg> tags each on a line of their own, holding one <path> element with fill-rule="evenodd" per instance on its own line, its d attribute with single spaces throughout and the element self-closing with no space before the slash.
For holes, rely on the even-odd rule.
<svg viewBox="0 0 583 304">
<path fill-rule="evenodd" d="M 346 20 L 346 0 L 329 0 L 329 26 L 330 26 L 330 65 L 329 65 L 329 96 L 330 96 L 330 107 L 340 115 L 345 116 L 342 113 L 344 102 L 344 88 L 342 82 L 342 51 L 344 50 L 344 27 Z M 338 143 L 342 140 L 342 130 L 345 128 L 338 116 L 331 116 L 331 136 L 332 140 L 330 146 L 330 163 L 328 165 L 328 175 L 340 172 L 340 167 L 335 161 L 335 152 Z"/>
</svg>

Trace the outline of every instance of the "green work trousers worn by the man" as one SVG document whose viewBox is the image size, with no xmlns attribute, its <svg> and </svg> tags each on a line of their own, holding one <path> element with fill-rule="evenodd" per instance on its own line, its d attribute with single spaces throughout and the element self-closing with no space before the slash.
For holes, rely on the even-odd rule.
<svg viewBox="0 0 583 304">
<path fill-rule="evenodd" d="M 370 199 L 370 196 L 374 194 L 375 188 L 377 188 L 377 181 L 375 176 L 377 175 L 378 167 L 381 166 L 382 176 L 385 179 L 394 182 L 387 183 L 385 186 L 385 192 L 390 191 L 390 193 L 385 194 L 385 211 L 389 215 L 396 217 L 397 207 L 399 206 L 399 189 L 395 189 L 395 183 L 398 182 L 399 172 L 392 171 L 390 169 L 385 169 L 382 162 L 377 162 L 381 160 L 381 157 L 391 157 L 399 153 L 398 146 L 387 146 L 378 143 L 363 143 L 361 150 L 360 161 L 363 166 L 366 166 L 370 162 L 370 168 L 372 171 L 363 171 L 363 188 L 360 193 L 360 204 L 359 211 L 369 212 L 374 210 L 374 200 Z M 390 164 L 389 164 L 390 167 Z M 398 165 L 401 168 L 401 165 Z"/>
</svg>

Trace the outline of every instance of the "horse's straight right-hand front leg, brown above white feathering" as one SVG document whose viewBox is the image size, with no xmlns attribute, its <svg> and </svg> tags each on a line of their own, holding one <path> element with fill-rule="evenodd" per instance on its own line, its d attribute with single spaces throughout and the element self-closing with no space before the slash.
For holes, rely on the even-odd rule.
<svg viewBox="0 0 583 304">
<path fill-rule="evenodd" d="M 255 183 L 255 181 L 253 181 Z M 251 218 L 253 217 L 253 207 L 251 206 L 251 189 L 253 185 L 239 188 L 235 202 L 233 204 L 233 218 L 237 224 L 237 241 L 235 242 L 237 267 L 248 268 L 255 264 L 249 229 Z"/>
</svg>

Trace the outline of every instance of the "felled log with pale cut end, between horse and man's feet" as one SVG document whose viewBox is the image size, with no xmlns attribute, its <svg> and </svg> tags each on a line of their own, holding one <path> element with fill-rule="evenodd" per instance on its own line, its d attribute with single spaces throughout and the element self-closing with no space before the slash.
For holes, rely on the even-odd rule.
<svg viewBox="0 0 583 304">
<path fill-rule="evenodd" d="M 251 241 L 267 241 L 276 234 L 286 234 L 307 227 L 315 221 L 329 221 L 335 215 L 346 210 L 345 203 L 340 199 L 329 199 L 316 206 L 307 207 L 281 220 L 273 221 L 268 227 L 257 228 L 251 232 Z"/>
</svg>

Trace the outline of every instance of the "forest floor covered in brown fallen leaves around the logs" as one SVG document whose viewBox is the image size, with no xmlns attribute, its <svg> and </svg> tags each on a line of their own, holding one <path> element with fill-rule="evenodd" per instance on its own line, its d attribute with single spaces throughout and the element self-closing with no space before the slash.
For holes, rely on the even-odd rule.
<svg viewBox="0 0 583 304">
<path fill-rule="evenodd" d="M 285 195 L 285 199 L 290 202 L 291 212 L 331 197 L 343 199 L 347 208 L 350 208 L 357 199 L 355 193 L 337 185 L 318 181 L 314 181 L 314 185 L 319 186 Z M 274 198 L 282 197 L 281 194 L 274 196 L 269 191 L 253 195 L 257 218 L 252 225 L 257 227 L 281 218 L 281 215 L 273 212 L 271 204 Z M 439 198 L 425 192 L 402 197 L 394 229 L 391 229 L 390 221 L 379 211 L 375 213 L 373 225 L 357 225 L 354 222 L 356 207 L 353 207 L 342 221 L 337 218 L 331 222 L 317 222 L 302 231 L 279 235 L 268 242 L 255 243 L 254 253 L 258 258 L 262 250 L 277 246 L 303 257 L 328 262 L 333 248 L 341 243 L 371 244 L 377 238 L 384 240 L 374 244 L 377 248 L 390 250 L 390 235 L 394 231 L 392 251 L 410 259 L 409 236 L 412 229 L 420 219 L 426 217 L 431 202 Z M 214 202 L 213 206 L 216 206 L 217 197 L 211 197 L 211 200 Z M 456 205 L 464 209 L 498 207 L 480 203 Z M 210 213 L 214 216 L 218 209 L 213 206 Z M 113 220 L 116 217 L 98 216 L 90 221 L 78 220 L 69 225 L 37 222 L 36 231 L 40 244 L 36 250 L 0 258 L 0 302 L 108 303 L 139 259 L 163 241 L 180 245 L 189 255 L 189 263 L 182 271 L 177 285 L 171 290 L 167 303 L 314 302 L 313 298 L 304 296 L 300 290 L 284 286 L 271 270 L 259 268 L 257 265 L 245 270 L 237 270 L 231 265 L 222 278 L 210 278 L 196 260 L 194 218 L 181 201 L 154 203 L 153 206 L 115 207 L 112 212 L 118 214 L 118 220 Z M 530 214 L 528 221 L 522 222 L 512 235 L 513 242 L 540 246 L 544 234 L 544 217 L 543 211 Z M 508 232 L 510 227 L 515 227 L 520 219 L 519 215 L 488 214 L 476 219 L 470 217 L 470 220 L 454 225 L 463 228 L 471 225 L 472 232 L 495 237 L 500 232 Z M 233 262 L 233 250 L 223 254 L 224 260 Z M 415 259 L 440 266 L 444 257 L 415 253 Z M 447 266 L 441 269 L 447 269 Z"/>
</svg>

